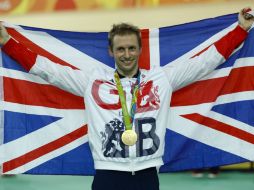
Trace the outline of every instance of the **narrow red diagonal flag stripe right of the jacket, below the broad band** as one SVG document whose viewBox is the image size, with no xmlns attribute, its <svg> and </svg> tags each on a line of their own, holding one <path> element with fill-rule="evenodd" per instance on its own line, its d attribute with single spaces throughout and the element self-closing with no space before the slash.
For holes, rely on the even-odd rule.
<svg viewBox="0 0 254 190">
<path fill-rule="evenodd" d="M 254 144 L 254 135 L 253 134 L 248 133 L 244 130 L 238 129 L 234 126 L 228 125 L 226 123 L 222 123 L 220 121 L 211 119 L 209 117 L 200 115 L 198 113 L 181 115 L 181 116 L 186 119 L 189 119 L 191 121 L 194 121 L 196 123 L 199 123 L 199 124 L 203 125 L 204 127 L 215 129 L 217 131 L 226 133 L 226 134 L 234 136 L 238 139 L 242 139 L 246 142 Z"/>
</svg>

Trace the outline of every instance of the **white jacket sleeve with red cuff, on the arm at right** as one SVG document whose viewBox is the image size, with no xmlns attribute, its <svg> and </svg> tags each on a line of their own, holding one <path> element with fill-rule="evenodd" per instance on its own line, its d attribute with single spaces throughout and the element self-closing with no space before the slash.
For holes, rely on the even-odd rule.
<svg viewBox="0 0 254 190">
<path fill-rule="evenodd" d="M 184 63 L 163 67 L 173 90 L 195 82 L 225 62 L 232 52 L 246 39 L 248 32 L 237 26 L 220 40 Z"/>
</svg>

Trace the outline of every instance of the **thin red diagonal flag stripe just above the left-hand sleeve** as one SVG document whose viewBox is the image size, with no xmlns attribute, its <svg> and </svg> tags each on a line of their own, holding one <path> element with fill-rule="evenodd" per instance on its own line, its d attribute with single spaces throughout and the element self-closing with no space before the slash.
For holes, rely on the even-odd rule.
<svg viewBox="0 0 254 190">
<path fill-rule="evenodd" d="M 48 51 L 46 51 L 45 49 L 41 48 L 40 46 L 36 45 L 35 43 L 33 43 L 31 40 L 27 39 L 25 36 L 23 36 L 22 34 L 20 34 L 18 31 L 16 31 L 13 28 L 7 28 L 8 33 L 15 39 L 17 40 L 19 43 L 23 44 L 25 47 L 27 47 L 28 49 L 30 49 L 31 51 L 42 55 L 44 57 L 47 57 L 48 59 L 50 59 L 51 61 L 58 63 L 60 65 L 65 65 L 65 66 L 69 66 L 73 69 L 77 69 L 76 67 L 74 67 L 73 65 L 70 65 L 69 63 L 61 60 L 60 58 L 56 57 L 55 55 L 49 53 Z"/>
</svg>

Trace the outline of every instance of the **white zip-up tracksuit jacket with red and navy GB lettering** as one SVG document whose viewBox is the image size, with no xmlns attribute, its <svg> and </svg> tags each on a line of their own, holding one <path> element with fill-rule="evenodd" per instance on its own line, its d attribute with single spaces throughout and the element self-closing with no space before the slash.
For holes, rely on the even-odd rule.
<svg viewBox="0 0 254 190">
<path fill-rule="evenodd" d="M 140 69 L 141 85 L 133 130 L 138 134 L 134 146 L 121 142 L 124 131 L 122 109 L 114 81 L 114 71 L 103 68 L 89 72 L 74 70 L 37 55 L 11 39 L 3 50 L 30 73 L 49 83 L 84 97 L 88 114 L 88 138 L 95 168 L 137 171 L 163 164 L 166 127 L 170 125 L 172 92 L 213 71 L 243 42 L 247 32 L 237 26 L 206 51 L 176 66 Z M 128 107 L 131 85 L 136 78 L 122 78 Z"/>
</svg>

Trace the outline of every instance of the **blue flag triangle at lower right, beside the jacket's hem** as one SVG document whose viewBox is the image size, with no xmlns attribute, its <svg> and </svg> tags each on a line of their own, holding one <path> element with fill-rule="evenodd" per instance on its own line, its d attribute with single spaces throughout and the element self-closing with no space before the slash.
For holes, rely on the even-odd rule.
<svg viewBox="0 0 254 190">
<path fill-rule="evenodd" d="M 248 160 L 187 138 L 174 131 L 166 132 L 164 164 L 160 172 L 190 170 L 228 165 Z M 216 139 L 214 139 L 216 141 Z"/>
</svg>

